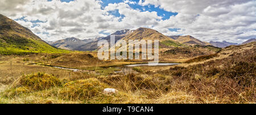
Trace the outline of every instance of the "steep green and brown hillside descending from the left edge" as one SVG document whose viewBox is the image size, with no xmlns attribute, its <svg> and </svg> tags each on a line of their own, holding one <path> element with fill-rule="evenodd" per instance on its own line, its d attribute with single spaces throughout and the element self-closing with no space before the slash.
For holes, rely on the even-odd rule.
<svg viewBox="0 0 256 115">
<path fill-rule="evenodd" d="M 63 53 L 53 48 L 30 29 L 0 14 L 0 54 Z"/>
</svg>

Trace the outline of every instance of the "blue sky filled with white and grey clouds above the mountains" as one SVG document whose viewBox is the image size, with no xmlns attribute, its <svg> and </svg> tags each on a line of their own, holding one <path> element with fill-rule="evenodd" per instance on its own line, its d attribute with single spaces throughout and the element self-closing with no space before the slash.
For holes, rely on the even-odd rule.
<svg viewBox="0 0 256 115">
<path fill-rule="evenodd" d="M 208 42 L 256 37 L 255 0 L 1 0 L 0 14 L 45 41 L 139 27 Z"/>
</svg>

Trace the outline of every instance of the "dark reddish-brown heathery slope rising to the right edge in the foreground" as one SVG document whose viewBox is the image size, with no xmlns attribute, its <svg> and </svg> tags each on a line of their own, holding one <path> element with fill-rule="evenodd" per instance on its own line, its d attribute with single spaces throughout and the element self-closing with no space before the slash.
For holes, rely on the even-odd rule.
<svg viewBox="0 0 256 115">
<path fill-rule="evenodd" d="M 253 48 L 227 58 L 176 66 L 158 73 L 172 75 L 175 87 L 192 93 L 200 103 L 255 103 L 255 55 Z"/>
</svg>

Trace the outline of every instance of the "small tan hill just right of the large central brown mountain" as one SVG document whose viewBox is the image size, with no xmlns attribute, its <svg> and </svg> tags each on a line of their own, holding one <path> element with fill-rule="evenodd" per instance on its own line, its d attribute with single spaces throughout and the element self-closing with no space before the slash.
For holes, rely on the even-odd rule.
<svg viewBox="0 0 256 115">
<path fill-rule="evenodd" d="M 208 42 L 203 42 L 192 36 L 169 36 L 171 39 L 184 45 L 210 45 Z"/>
</svg>

